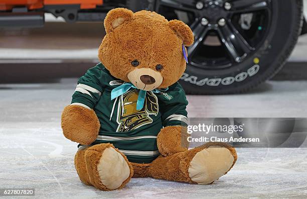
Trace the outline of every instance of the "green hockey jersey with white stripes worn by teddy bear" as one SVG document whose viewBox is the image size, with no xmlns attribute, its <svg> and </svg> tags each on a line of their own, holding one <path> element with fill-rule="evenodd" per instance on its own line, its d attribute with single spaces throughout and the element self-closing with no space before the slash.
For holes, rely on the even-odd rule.
<svg viewBox="0 0 307 199">
<path fill-rule="evenodd" d="M 136 110 L 139 89 L 111 101 L 112 89 L 123 83 L 99 63 L 79 79 L 71 105 L 95 111 L 101 127 L 91 145 L 111 143 L 130 162 L 149 163 L 160 155 L 157 135 L 163 127 L 187 126 L 186 95 L 177 82 L 166 91 L 147 91 L 143 108 Z"/>
</svg>

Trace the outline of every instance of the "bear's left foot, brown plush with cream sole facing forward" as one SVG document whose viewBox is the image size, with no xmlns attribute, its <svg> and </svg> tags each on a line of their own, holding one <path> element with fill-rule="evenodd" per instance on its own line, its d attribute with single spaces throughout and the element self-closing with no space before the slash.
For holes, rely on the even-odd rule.
<svg viewBox="0 0 307 199">
<path fill-rule="evenodd" d="M 91 184 L 100 190 L 120 189 L 133 175 L 126 156 L 109 143 L 88 148 L 85 164 Z"/>
</svg>

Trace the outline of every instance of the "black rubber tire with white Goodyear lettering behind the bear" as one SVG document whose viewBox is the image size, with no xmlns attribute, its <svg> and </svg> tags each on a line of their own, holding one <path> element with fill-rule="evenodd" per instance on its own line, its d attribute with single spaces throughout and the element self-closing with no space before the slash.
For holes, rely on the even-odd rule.
<svg viewBox="0 0 307 199">
<path fill-rule="evenodd" d="M 207 71 L 187 65 L 180 83 L 188 94 L 246 92 L 273 77 L 283 67 L 301 31 L 302 1 L 277 1 L 278 11 L 283 12 L 276 14 L 275 27 L 270 27 L 266 41 L 250 58 L 225 70 Z"/>
</svg>

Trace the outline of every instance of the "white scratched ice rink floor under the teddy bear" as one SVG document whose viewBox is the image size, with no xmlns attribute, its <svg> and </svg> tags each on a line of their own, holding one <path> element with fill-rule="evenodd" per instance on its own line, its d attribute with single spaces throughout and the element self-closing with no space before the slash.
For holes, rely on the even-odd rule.
<svg viewBox="0 0 307 199">
<path fill-rule="evenodd" d="M 77 144 L 64 138 L 60 116 L 76 79 L 0 84 L 0 188 L 35 188 L 36 197 L 200 198 L 307 197 L 306 148 L 237 149 L 238 161 L 211 185 L 132 179 L 104 192 L 80 182 Z M 188 96 L 189 117 L 306 117 L 307 81 L 269 81 L 240 95 Z"/>
</svg>

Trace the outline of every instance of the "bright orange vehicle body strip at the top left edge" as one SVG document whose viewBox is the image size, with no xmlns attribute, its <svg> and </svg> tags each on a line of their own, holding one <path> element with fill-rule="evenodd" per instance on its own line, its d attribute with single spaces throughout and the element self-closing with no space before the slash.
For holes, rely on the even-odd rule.
<svg viewBox="0 0 307 199">
<path fill-rule="evenodd" d="M 44 5 L 80 5 L 81 9 L 94 9 L 102 4 L 103 0 L 0 0 L 0 11 L 12 10 L 16 6 L 35 10 L 43 8 Z"/>
</svg>

